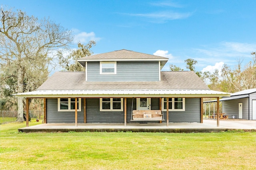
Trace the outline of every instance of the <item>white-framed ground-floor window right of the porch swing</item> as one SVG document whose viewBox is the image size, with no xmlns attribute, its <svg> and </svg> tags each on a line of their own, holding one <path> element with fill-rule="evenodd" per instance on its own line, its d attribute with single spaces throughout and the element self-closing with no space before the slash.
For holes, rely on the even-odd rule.
<svg viewBox="0 0 256 170">
<path fill-rule="evenodd" d="M 169 111 L 185 111 L 185 98 L 169 98 Z M 162 110 L 166 111 L 167 98 L 162 99 Z"/>
</svg>

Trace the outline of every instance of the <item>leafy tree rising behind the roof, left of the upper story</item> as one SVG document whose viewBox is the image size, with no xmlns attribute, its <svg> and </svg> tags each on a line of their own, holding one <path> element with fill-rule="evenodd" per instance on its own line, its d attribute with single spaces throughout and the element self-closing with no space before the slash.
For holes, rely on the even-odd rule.
<svg viewBox="0 0 256 170">
<path fill-rule="evenodd" d="M 85 68 L 77 61 L 77 59 L 92 55 L 93 52 L 90 51 L 90 49 L 95 45 L 96 42 L 92 40 L 86 45 L 78 43 L 78 49 L 72 51 L 67 57 L 64 57 L 63 53 L 58 51 L 60 66 L 67 71 L 85 71 Z"/>
</svg>

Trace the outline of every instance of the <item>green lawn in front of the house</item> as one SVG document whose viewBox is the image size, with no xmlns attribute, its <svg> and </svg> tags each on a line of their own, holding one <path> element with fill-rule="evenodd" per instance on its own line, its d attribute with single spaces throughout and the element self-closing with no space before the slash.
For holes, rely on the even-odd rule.
<svg viewBox="0 0 256 170">
<path fill-rule="evenodd" d="M 30 125 L 40 124 L 32 120 Z M 244 169 L 256 166 L 256 132 L 18 133 L 0 125 L 1 170 Z"/>
</svg>

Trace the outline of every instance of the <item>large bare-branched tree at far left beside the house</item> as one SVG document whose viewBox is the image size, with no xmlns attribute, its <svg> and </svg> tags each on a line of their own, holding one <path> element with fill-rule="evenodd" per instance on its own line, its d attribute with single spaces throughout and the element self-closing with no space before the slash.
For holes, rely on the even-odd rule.
<svg viewBox="0 0 256 170">
<path fill-rule="evenodd" d="M 49 19 L 38 20 L 21 10 L 0 8 L 0 73 L 2 91 L 35 90 L 48 76 L 56 48 L 68 47 L 71 31 Z M 8 72 L 6 72 L 8 71 Z M 12 82 L 9 83 L 8 82 Z M 23 119 L 23 99 L 18 98 L 18 119 Z"/>
</svg>

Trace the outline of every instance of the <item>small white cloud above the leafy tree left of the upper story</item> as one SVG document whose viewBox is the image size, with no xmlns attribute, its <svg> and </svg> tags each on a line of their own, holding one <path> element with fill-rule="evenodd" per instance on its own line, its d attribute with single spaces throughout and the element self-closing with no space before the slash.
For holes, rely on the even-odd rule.
<svg viewBox="0 0 256 170">
<path fill-rule="evenodd" d="M 86 33 L 86 32 L 79 32 L 77 29 L 73 29 L 75 34 L 74 43 L 88 43 L 90 40 L 99 41 L 101 38 L 96 37 L 94 32 Z"/>
</svg>

